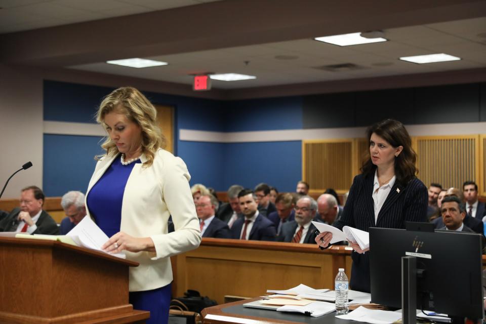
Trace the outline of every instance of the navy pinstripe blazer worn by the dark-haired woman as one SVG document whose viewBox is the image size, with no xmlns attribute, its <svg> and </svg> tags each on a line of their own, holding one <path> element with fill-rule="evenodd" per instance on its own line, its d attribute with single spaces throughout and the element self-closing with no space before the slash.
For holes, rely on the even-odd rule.
<svg viewBox="0 0 486 324">
<path fill-rule="evenodd" d="M 405 228 L 407 221 L 427 221 L 427 188 L 422 181 L 414 178 L 408 184 L 395 181 L 375 224 L 375 208 L 372 197 L 374 177 L 374 173 L 366 177 L 362 174 L 354 177 L 343 215 L 333 226 L 342 229 L 343 226 L 347 225 L 368 231 L 370 227 Z M 353 259 L 351 288 L 370 292 L 369 253 L 358 254 L 353 251 L 351 257 Z"/>
</svg>

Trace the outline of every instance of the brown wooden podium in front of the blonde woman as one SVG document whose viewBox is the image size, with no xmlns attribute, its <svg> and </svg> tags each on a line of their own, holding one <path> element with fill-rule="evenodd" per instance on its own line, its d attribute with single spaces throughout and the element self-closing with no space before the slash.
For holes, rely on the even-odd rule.
<svg viewBox="0 0 486 324">
<path fill-rule="evenodd" d="M 0 237 L 0 322 L 142 323 L 128 298 L 137 262 L 59 241 Z"/>
</svg>

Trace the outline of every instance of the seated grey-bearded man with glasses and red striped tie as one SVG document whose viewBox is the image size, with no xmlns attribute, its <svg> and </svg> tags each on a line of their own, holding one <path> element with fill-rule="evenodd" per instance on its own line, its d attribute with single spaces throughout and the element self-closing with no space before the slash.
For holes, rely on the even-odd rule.
<svg viewBox="0 0 486 324">
<path fill-rule="evenodd" d="M 334 198 L 334 197 L 333 197 Z M 282 225 L 277 237 L 281 242 L 315 244 L 315 226 L 311 223 L 317 210 L 316 201 L 309 196 L 297 200 L 295 220 Z"/>
</svg>

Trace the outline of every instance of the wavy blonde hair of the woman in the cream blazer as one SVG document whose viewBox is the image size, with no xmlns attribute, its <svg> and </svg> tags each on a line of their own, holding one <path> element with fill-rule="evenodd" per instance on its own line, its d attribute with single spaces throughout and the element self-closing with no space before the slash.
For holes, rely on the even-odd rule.
<svg viewBox="0 0 486 324">
<path fill-rule="evenodd" d="M 106 114 L 112 111 L 124 114 L 127 119 L 140 126 L 142 130 L 142 153 L 147 158 L 143 167 L 150 167 L 155 152 L 159 148 L 166 147 L 166 139 L 157 126 L 157 111 L 154 106 L 137 89 L 121 87 L 113 90 L 103 99 L 96 113 L 96 121 L 103 125 Z M 101 147 L 106 151 L 106 154 L 97 155 L 95 157 L 97 160 L 104 156 L 115 156 L 119 153 L 116 144 L 109 136 L 106 137 Z"/>
</svg>

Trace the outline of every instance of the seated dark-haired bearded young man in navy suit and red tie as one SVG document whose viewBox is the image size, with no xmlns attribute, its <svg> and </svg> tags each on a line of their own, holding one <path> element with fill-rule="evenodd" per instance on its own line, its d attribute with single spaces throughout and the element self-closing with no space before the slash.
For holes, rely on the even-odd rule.
<svg viewBox="0 0 486 324">
<path fill-rule="evenodd" d="M 245 216 L 239 218 L 231 227 L 231 236 L 236 239 L 275 240 L 276 231 L 268 218 L 260 215 L 256 196 L 251 189 L 238 193 L 239 207 Z"/>
</svg>

